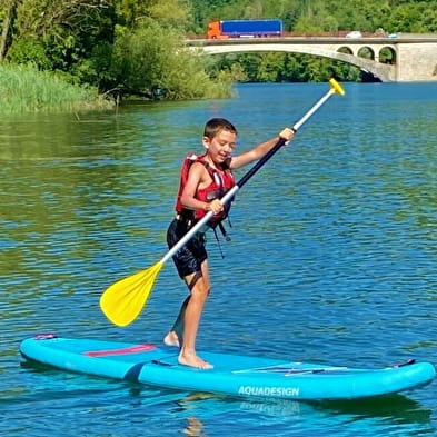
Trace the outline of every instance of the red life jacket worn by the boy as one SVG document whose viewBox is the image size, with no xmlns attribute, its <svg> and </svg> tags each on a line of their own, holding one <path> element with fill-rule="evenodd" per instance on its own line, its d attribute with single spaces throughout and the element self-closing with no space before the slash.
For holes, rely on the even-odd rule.
<svg viewBox="0 0 437 437">
<path fill-rule="evenodd" d="M 235 186 L 235 179 L 232 172 L 230 171 L 228 161 L 222 165 L 222 170 L 217 170 L 216 168 L 211 167 L 206 160 L 206 155 L 197 156 L 195 153 L 191 153 L 187 156 L 187 158 L 182 162 L 182 168 L 180 171 L 180 185 L 178 198 L 176 200 L 176 212 L 178 212 L 178 215 L 180 215 L 183 219 L 197 221 L 205 217 L 207 215 L 207 211 L 205 211 L 203 209 L 192 210 L 183 208 L 180 201 L 180 197 L 182 196 L 183 188 L 188 180 L 190 167 L 195 162 L 202 163 L 212 179 L 211 183 L 208 187 L 197 190 L 195 197 L 198 200 L 210 202 L 213 199 L 221 199 L 225 193 Z M 230 202 L 225 205 L 224 212 L 212 216 L 210 222 L 218 224 L 224 220 L 227 217 L 229 209 Z"/>
</svg>

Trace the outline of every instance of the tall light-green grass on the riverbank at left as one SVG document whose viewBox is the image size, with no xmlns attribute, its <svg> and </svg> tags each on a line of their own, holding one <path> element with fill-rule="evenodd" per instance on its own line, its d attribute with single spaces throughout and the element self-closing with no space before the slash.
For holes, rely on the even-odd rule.
<svg viewBox="0 0 437 437">
<path fill-rule="evenodd" d="M 30 66 L 0 64 L 0 115 L 79 112 L 113 105 L 96 89 L 73 86 L 54 73 Z"/>
</svg>

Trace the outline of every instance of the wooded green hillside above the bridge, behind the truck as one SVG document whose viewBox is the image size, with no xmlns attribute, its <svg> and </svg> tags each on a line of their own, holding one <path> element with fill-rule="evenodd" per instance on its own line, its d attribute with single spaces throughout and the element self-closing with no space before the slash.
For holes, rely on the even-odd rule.
<svg viewBox="0 0 437 437">
<path fill-rule="evenodd" d="M 280 18 L 285 30 L 437 32 L 437 1 L 417 0 L 191 0 L 199 32 L 211 20 Z"/>
</svg>

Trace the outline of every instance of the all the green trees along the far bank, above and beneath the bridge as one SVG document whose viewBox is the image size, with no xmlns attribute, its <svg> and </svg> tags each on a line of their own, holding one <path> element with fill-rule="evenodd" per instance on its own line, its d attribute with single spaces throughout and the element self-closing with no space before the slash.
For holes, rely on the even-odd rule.
<svg viewBox="0 0 437 437">
<path fill-rule="evenodd" d="M 278 18 L 286 31 L 437 32 L 437 0 L 0 0 L 0 62 L 101 93 L 226 97 L 234 81 L 360 80 L 345 63 L 289 53 L 199 57 L 209 21 Z"/>
</svg>

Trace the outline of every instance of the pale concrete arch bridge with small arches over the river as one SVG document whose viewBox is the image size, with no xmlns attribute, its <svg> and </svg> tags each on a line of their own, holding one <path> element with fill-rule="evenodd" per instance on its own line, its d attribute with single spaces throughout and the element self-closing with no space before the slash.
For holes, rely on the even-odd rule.
<svg viewBox="0 0 437 437">
<path fill-rule="evenodd" d="M 186 43 L 205 54 L 285 51 L 330 58 L 370 72 L 383 82 L 437 81 L 437 34 L 195 39 Z"/>
</svg>

